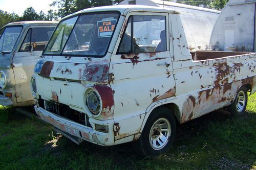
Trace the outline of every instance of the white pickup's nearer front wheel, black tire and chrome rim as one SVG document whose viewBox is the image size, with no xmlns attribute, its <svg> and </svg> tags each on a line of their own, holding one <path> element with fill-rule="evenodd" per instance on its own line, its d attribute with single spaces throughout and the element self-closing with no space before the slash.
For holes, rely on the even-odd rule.
<svg viewBox="0 0 256 170">
<path fill-rule="evenodd" d="M 176 134 L 176 120 L 167 108 L 154 110 L 148 117 L 140 138 L 134 143 L 142 156 L 160 156 L 171 147 Z"/>
</svg>

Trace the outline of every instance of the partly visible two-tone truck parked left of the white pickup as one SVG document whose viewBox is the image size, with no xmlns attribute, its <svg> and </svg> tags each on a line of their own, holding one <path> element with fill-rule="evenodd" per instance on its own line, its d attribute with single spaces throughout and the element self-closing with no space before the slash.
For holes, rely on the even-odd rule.
<svg viewBox="0 0 256 170">
<path fill-rule="evenodd" d="M 0 30 L 0 105 L 32 106 L 30 78 L 57 22 L 23 21 Z"/>
</svg>

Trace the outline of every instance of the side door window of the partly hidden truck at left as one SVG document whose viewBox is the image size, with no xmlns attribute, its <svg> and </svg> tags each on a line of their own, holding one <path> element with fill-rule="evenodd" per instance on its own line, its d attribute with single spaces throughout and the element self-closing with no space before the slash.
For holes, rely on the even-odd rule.
<svg viewBox="0 0 256 170">
<path fill-rule="evenodd" d="M 54 31 L 54 27 L 29 29 L 19 51 L 23 51 L 23 52 L 30 51 L 31 46 L 33 46 L 33 51 L 44 50 L 53 31 Z"/>
</svg>

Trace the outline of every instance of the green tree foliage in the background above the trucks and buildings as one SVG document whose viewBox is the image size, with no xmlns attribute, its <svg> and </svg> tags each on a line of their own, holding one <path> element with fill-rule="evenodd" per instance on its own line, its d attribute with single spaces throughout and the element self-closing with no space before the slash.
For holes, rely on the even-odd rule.
<svg viewBox="0 0 256 170">
<path fill-rule="evenodd" d="M 9 22 L 22 21 L 22 20 L 59 20 L 69 14 L 75 13 L 79 10 L 100 7 L 106 5 L 116 5 L 123 0 L 55 0 L 50 6 L 57 7 L 57 10 L 49 10 L 47 13 L 40 11 L 37 13 L 34 8 L 27 8 L 22 16 L 17 14 L 8 13 L 0 10 L 0 27 L 5 26 Z M 166 0 L 169 1 L 169 0 Z M 228 0 L 178 0 L 178 3 L 187 5 L 204 5 L 206 8 L 221 10 L 225 7 Z"/>
</svg>

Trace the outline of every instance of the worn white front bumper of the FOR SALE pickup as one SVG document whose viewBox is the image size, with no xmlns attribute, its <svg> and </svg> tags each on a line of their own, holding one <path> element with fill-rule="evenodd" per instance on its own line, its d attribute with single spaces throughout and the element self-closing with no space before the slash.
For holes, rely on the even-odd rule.
<svg viewBox="0 0 256 170">
<path fill-rule="evenodd" d="M 108 133 L 95 131 L 93 128 L 83 126 L 65 117 L 51 113 L 39 107 L 38 105 L 35 105 L 35 111 L 43 120 L 53 125 L 55 128 L 59 129 L 62 132 L 99 145 L 114 145 L 114 133 L 112 131 L 109 131 Z M 113 120 L 108 121 L 108 123 L 106 123 L 105 121 L 103 122 L 103 125 L 107 124 L 109 125 L 109 127 L 114 126 Z M 92 124 L 92 126 L 95 124 L 93 123 L 93 121 L 90 121 L 90 123 Z M 99 124 L 99 122 L 97 122 L 97 124 Z M 111 128 L 109 129 L 111 130 Z"/>
</svg>

